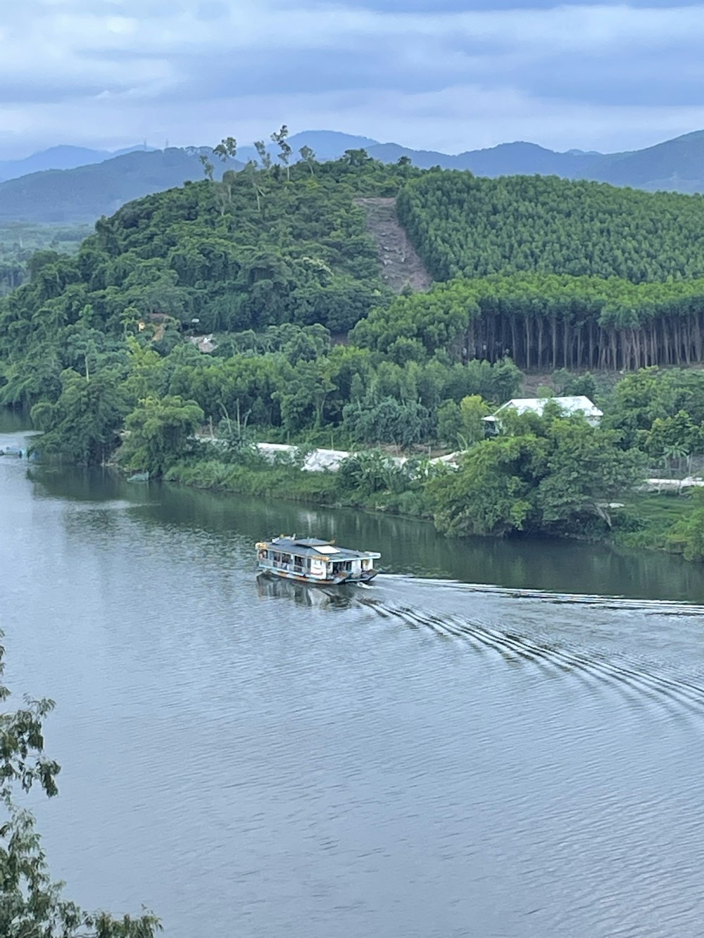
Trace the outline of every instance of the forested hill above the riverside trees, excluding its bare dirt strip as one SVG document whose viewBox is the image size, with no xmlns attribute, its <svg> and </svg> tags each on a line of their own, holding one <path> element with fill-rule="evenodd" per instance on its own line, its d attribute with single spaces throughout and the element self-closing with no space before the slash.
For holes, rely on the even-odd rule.
<svg viewBox="0 0 704 938">
<path fill-rule="evenodd" d="M 394 196 L 450 286 L 393 300 L 358 203 Z M 31 282 L 0 302 L 0 403 L 55 395 L 62 370 L 124 352 L 154 316 L 345 332 L 374 310 L 352 340 L 402 368 L 436 355 L 528 369 L 701 361 L 703 233 L 698 196 L 389 167 L 363 150 L 290 174 L 250 165 L 124 205 L 75 256 L 39 252 Z M 159 348 L 180 341 L 167 329 Z"/>
</svg>

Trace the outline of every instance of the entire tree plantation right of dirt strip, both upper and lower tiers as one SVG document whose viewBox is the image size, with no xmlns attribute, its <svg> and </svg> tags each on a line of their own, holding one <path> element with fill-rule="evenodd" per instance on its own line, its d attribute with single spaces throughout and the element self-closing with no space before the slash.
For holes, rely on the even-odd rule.
<svg viewBox="0 0 704 938">
<path fill-rule="evenodd" d="M 466 309 L 469 356 L 528 370 L 704 356 L 701 196 L 445 172 L 409 180 L 398 212 L 435 279 L 458 280 L 437 299 Z"/>
</svg>

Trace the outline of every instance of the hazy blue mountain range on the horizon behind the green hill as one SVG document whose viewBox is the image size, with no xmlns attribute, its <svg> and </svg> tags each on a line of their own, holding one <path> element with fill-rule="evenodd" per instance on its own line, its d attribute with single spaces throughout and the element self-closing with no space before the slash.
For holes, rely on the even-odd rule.
<svg viewBox="0 0 704 938">
<path fill-rule="evenodd" d="M 499 144 L 451 156 L 434 150 L 413 150 L 380 144 L 333 130 L 308 130 L 289 138 L 294 154 L 310 146 L 317 159 L 337 159 L 347 149 L 365 149 L 382 162 L 408 157 L 421 168 L 471 170 L 484 176 L 542 174 L 592 179 L 635 189 L 704 191 L 704 130 L 663 144 L 626 153 L 569 150 L 558 153 L 538 144 Z M 274 147 L 270 149 L 273 151 Z M 111 215 L 120 205 L 150 192 L 203 178 L 200 153 L 207 147 L 150 150 L 130 147 L 107 153 L 73 146 L 54 146 L 31 157 L 0 161 L 0 221 L 85 222 Z M 232 168 L 255 159 L 252 146 L 237 151 Z M 227 168 L 213 160 L 216 174 Z"/>
</svg>

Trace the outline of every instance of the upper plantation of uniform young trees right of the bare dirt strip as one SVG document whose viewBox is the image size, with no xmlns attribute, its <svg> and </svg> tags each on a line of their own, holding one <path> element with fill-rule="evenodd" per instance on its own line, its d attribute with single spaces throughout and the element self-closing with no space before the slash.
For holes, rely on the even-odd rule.
<svg viewBox="0 0 704 938">
<path fill-rule="evenodd" d="M 436 280 L 518 272 L 704 277 L 704 198 L 557 176 L 423 174 L 399 217 Z"/>
</svg>

